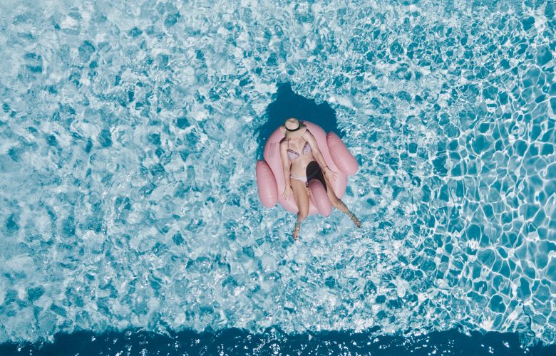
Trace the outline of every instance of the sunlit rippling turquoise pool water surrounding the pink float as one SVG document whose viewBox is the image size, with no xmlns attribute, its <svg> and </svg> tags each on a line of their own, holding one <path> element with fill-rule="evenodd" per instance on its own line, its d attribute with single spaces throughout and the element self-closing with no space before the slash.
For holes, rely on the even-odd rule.
<svg viewBox="0 0 556 356">
<path fill-rule="evenodd" d="M 556 339 L 553 1 L 2 1 L 0 342 L 110 328 Z M 364 221 L 259 203 L 279 83 Z M 303 117 L 299 117 L 303 119 Z"/>
</svg>

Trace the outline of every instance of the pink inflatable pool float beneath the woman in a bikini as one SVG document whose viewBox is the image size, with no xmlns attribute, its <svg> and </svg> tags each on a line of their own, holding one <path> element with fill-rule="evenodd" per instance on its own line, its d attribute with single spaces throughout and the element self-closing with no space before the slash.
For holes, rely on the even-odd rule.
<svg viewBox="0 0 556 356">
<path fill-rule="evenodd" d="M 346 192 L 347 176 L 355 174 L 357 169 L 359 169 L 359 164 L 346 148 L 344 142 L 334 132 L 326 134 L 320 126 L 312 122 L 303 121 L 303 123 L 307 125 L 307 130 L 314 136 L 328 167 L 336 172 L 336 179 L 331 182 L 331 185 L 336 193 L 336 197 L 341 199 Z M 264 159 L 257 161 L 256 171 L 259 199 L 262 205 L 267 208 L 272 208 L 272 206 L 279 202 L 284 209 L 297 214 L 299 209 L 294 197 L 290 197 L 288 200 L 282 199 L 285 180 L 279 146 L 283 138 L 284 134 L 279 128 L 272 132 L 272 135 L 270 135 L 267 143 L 264 145 L 262 155 Z M 309 195 L 309 215 L 319 213 L 323 216 L 329 216 L 332 206 L 322 183 L 318 179 L 310 179 L 308 185 L 311 192 Z"/>
</svg>

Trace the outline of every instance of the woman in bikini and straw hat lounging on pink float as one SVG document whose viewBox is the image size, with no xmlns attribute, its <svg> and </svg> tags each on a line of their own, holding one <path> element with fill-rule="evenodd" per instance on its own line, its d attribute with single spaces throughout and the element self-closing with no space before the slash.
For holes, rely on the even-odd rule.
<svg viewBox="0 0 556 356">
<path fill-rule="evenodd" d="M 293 195 L 299 208 L 293 233 L 294 240 L 299 237 L 301 223 L 309 214 L 310 193 L 308 187 L 310 179 L 319 179 L 326 187 L 326 193 L 332 206 L 346 213 L 354 224 L 360 227 L 361 221 L 349 211 L 344 201 L 336 197 L 330 184 L 332 179 L 336 179 L 336 172 L 333 172 L 324 162 L 319 146 L 316 144 L 314 136 L 307 130 L 307 126 L 290 117 L 284 126 L 280 127 L 280 130 L 285 136 L 280 141 L 280 157 L 284 167 L 284 177 L 289 177 L 289 179 L 285 179 L 286 187 L 282 198 L 288 200 Z"/>
</svg>

